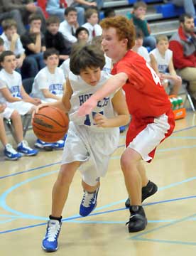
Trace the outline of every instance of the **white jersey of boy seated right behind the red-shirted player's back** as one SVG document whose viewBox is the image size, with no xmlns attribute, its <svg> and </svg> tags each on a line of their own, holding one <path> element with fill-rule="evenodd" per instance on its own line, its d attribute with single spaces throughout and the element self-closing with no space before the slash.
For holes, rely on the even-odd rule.
<svg viewBox="0 0 196 256">
<path fill-rule="evenodd" d="M 158 48 L 155 48 L 151 51 L 150 54 L 153 54 L 156 59 L 158 65 L 158 71 L 160 73 L 168 73 L 168 65 L 170 63 L 171 58 L 173 58 L 173 52 L 168 49 L 165 51 L 165 56 L 160 55 Z"/>
</svg>

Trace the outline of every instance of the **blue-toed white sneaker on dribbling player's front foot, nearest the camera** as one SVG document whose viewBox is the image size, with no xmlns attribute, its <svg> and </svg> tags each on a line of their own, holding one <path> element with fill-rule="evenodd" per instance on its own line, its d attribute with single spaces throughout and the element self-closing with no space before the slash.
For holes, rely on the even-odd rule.
<svg viewBox="0 0 196 256">
<path fill-rule="evenodd" d="M 55 252 L 58 250 L 58 235 L 61 225 L 62 222 L 58 220 L 48 220 L 45 237 L 42 241 L 42 247 L 45 252 Z"/>
</svg>

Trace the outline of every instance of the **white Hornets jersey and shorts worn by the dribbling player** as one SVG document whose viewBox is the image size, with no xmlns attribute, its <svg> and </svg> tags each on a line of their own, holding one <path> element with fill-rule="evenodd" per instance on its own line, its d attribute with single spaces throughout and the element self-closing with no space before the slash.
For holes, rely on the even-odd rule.
<svg viewBox="0 0 196 256">
<path fill-rule="evenodd" d="M 77 117 L 77 110 L 104 82 L 111 77 L 102 71 L 101 79 L 96 86 L 88 85 L 80 76 L 69 73 L 70 85 L 73 90 L 71 97 L 70 127 L 62 155 L 62 164 L 81 161 L 82 179 L 94 186 L 100 176 L 107 171 L 109 158 L 119 144 L 119 127 L 101 128 L 94 124 L 96 113 L 108 118 L 115 117 L 111 99 L 114 95 L 104 97 L 97 103 L 92 113 L 85 117 Z"/>
</svg>

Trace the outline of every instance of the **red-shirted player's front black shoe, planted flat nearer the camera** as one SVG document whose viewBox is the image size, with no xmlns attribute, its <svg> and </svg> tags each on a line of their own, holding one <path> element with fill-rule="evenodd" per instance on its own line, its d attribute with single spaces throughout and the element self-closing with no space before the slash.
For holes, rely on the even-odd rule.
<svg viewBox="0 0 196 256">
<path fill-rule="evenodd" d="M 147 219 L 142 206 L 130 206 L 130 218 L 128 223 L 129 233 L 144 230 L 147 225 Z"/>
</svg>

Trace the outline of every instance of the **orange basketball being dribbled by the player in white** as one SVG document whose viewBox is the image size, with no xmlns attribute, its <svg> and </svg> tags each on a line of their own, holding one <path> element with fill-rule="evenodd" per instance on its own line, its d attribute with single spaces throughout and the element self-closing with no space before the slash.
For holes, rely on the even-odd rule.
<svg viewBox="0 0 196 256">
<path fill-rule="evenodd" d="M 33 132 L 43 142 L 57 142 L 69 127 L 67 114 L 57 107 L 41 107 L 33 117 Z"/>
</svg>

